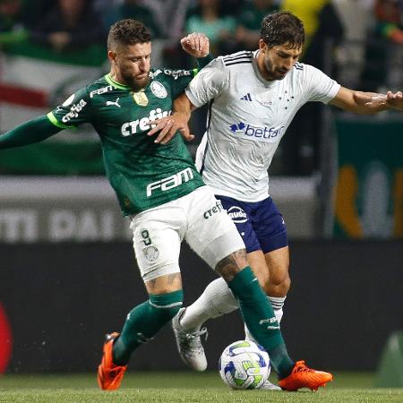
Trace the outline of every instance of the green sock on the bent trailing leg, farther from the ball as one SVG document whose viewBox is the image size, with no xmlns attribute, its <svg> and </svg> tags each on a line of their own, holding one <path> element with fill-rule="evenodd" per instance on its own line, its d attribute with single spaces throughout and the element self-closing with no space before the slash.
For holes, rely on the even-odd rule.
<svg viewBox="0 0 403 403">
<path fill-rule="evenodd" d="M 152 339 L 170 321 L 182 306 L 184 292 L 150 295 L 150 300 L 137 305 L 127 315 L 124 328 L 113 349 L 113 361 L 117 365 L 129 362 L 135 348 Z"/>
</svg>

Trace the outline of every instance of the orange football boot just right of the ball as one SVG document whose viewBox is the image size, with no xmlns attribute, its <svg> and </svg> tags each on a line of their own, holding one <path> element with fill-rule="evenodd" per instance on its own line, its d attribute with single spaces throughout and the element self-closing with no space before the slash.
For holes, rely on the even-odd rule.
<svg viewBox="0 0 403 403">
<path fill-rule="evenodd" d="M 325 386 L 327 382 L 333 380 L 331 373 L 315 371 L 308 368 L 304 361 L 297 361 L 291 373 L 279 381 L 279 386 L 283 390 L 296 391 L 300 388 L 318 390 L 320 386 Z"/>
</svg>

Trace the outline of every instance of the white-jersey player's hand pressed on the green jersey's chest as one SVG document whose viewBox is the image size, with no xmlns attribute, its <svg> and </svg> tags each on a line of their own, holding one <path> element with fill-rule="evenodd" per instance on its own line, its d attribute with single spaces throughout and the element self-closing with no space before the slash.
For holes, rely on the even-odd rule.
<svg viewBox="0 0 403 403">
<path fill-rule="evenodd" d="M 161 119 L 156 119 L 154 122 L 152 122 L 152 129 L 149 133 L 147 133 L 147 135 L 152 136 L 156 133 L 159 133 L 154 142 L 167 144 L 167 142 L 174 137 L 176 132 L 179 131 L 184 140 L 192 141 L 194 139 L 194 135 L 190 133 L 189 126 L 187 124 L 188 120 L 188 116 L 179 113 L 174 113 L 174 115 L 162 117 Z"/>
</svg>

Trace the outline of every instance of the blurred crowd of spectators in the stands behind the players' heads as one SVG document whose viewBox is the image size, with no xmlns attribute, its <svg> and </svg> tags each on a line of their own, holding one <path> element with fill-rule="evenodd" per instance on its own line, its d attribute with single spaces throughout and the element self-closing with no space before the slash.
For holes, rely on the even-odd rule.
<svg viewBox="0 0 403 403">
<path fill-rule="evenodd" d="M 262 17 L 280 9 L 304 21 L 302 62 L 357 90 L 401 90 L 403 0 L 0 0 L 0 48 L 12 51 L 28 41 L 86 57 L 87 48 L 96 45 L 106 55 L 110 25 L 134 18 L 157 39 L 159 64 L 187 67 L 192 62 L 178 42 L 186 33 L 206 33 L 215 56 L 253 50 Z M 318 167 L 321 114 L 322 107 L 313 103 L 296 116 L 289 131 L 298 127 L 303 135 L 287 135 L 282 143 L 287 174 Z"/>
</svg>

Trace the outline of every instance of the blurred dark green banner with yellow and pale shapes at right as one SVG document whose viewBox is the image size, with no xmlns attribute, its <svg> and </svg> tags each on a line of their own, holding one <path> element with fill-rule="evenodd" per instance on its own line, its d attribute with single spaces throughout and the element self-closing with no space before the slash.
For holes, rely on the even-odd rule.
<svg viewBox="0 0 403 403">
<path fill-rule="evenodd" d="M 333 236 L 403 237 L 403 122 L 339 118 Z"/>
</svg>

